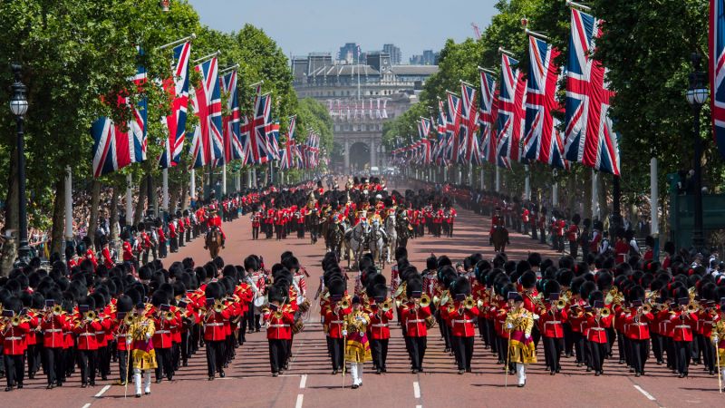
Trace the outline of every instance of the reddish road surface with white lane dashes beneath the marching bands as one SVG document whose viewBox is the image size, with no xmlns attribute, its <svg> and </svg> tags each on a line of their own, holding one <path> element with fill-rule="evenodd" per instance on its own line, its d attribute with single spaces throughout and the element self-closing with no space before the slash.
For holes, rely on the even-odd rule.
<svg viewBox="0 0 725 408">
<path fill-rule="evenodd" d="M 413 239 L 408 248 L 411 262 L 419 269 L 425 267 L 425 258 L 433 252 L 447 254 L 454 262 L 473 252 L 493 257 L 488 246 L 490 221 L 470 211 L 459 209 L 453 238 Z M 309 238 L 251 240 L 251 225 L 247 217 L 224 226 L 227 248 L 221 257 L 227 263 L 241 265 L 244 257 L 255 253 L 265 257 L 271 267 L 279 254 L 292 250 L 311 273 L 308 291 L 314 294 L 322 274 L 320 261 L 324 255 L 324 243 L 311 245 Z M 526 257 L 528 252 L 538 251 L 544 257 L 557 257 L 545 246 L 528 237 L 511 234 L 509 257 Z M 170 265 L 183 257 L 194 257 L 197 263 L 206 262 L 208 252 L 197 239 L 177 254 L 164 260 Z M 390 267 L 384 271 L 390 277 Z M 351 288 L 352 289 L 352 288 Z M 583 406 L 590 407 L 692 407 L 722 406 L 725 395 L 718 392 L 717 376 L 702 371 L 702 365 L 691 366 L 689 378 L 679 379 L 664 366 L 646 366 L 646 374 L 634 377 L 616 360 L 604 364 L 604 375 L 594 377 L 584 367 L 576 367 L 574 358 L 562 358 L 562 372 L 551 376 L 544 370 L 541 349 L 539 364 L 528 367 L 527 385 L 517 388 L 515 376 L 506 376 L 490 351 L 477 339 L 473 357 L 473 373 L 456 374 L 454 359 L 443 352 L 438 330 L 429 335 L 425 356 L 425 372 L 411 374 L 410 365 L 400 329 L 391 330 L 388 355 L 388 373 L 376 375 L 372 365 L 366 364 L 363 386 L 350 388 L 350 375 L 332 375 L 327 356 L 319 306 L 313 302 L 313 310 L 304 331 L 295 335 L 293 360 L 290 369 L 277 378 L 271 377 L 266 335 L 264 332 L 247 335 L 247 343 L 237 349 L 237 358 L 226 370 L 227 377 L 208 381 L 206 356 L 201 349 L 182 367 L 174 381 L 151 385 L 151 394 L 140 399 L 124 398 L 124 388 L 107 382 L 96 382 L 95 387 L 81 388 L 79 374 L 73 375 L 63 388 L 45 389 L 45 376 L 25 381 L 23 390 L 2 394 L 6 407 L 61 406 L 88 408 L 132 406 L 177 407 L 323 407 L 344 404 L 348 407 L 497 407 L 505 404 L 536 404 L 539 407 Z M 616 351 L 615 354 L 616 355 Z M 118 373 L 113 365 L 113 373 Z M 506 386 L 508 384 L 508 386 Z M 512 384 L 514 384 L 512 386 Z M 130 395 L 133 394 L 131 386 Z"/>
</svg>

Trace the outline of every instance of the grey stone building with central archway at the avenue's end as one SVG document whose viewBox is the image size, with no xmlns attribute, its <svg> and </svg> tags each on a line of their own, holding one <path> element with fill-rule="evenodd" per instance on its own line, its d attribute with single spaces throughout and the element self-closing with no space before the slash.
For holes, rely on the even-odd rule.
<svg viewBox="0 0 725 408">
<path fill-rule="evenodd" d="M 333 118 L 334 142 L 344 152 L 344 163 L 336 163 L 337 169 L 345 172 L 364 171 L 364 166 L 387 166 L 382 123 L 418 102 L 423 83 L 438 72 L 433 64 L 394 64 L 390 53 L 380 51 L 366 53 L 362 61 L 365 63 L 333 62 L 329 53 L 292 59 L 297 97 L 324 103 Z M 369 160 L 363 158 L 365 164 L 361 164 L 360 155 L 367 153 L 361 151 L 370 154 Z M 353 161 L 351 152 L 357 153 Z"/>
</svg>

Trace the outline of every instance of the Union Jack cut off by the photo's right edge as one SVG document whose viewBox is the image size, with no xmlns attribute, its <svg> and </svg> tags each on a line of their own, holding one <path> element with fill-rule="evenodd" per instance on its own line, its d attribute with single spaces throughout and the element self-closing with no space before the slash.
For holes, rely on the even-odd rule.
<svg viewBox="0 0 725 408">
<path fill-rule="evenodd" d="M 709 71 L 712 135 L 725 157 L 725 0 L 710 0 Z"/>
</svg>

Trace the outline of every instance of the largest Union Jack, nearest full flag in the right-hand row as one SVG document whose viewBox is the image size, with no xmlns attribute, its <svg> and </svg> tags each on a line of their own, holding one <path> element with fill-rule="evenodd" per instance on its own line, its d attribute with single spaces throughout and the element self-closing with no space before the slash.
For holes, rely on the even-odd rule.
<svg viewBox="0 0 725 408">
<path fill-rule="evenodd" d="M 591 58 L 602 34 L 601 20 L 572 9 L 572 34 L 566 64 L 566 160 L 619 176 L 619 146 L 609 118 L 614 92 L 605 83 L 606 69 Z"/>
</svg>

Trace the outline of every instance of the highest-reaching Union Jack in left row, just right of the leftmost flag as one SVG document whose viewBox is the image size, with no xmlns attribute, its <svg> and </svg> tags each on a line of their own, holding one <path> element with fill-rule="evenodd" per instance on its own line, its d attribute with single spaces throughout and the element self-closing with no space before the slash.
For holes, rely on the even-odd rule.
<svg viewBox="0 0 725 408">
<path fill-rule="evenodd" d="M 181 160 L 184 150 L 184 139 L 187 127 L 187 109 L 189 107 L 189 56 L 191 43 L 186 42 L 174 47 L 173 76 L 163 82 L 163 88 L 171 95 L 171 114 L 161 119 L 169 137 L 164 143 L 164 151 L 159 157 L 161 169 L 176 166 Z"/>
</svg>

